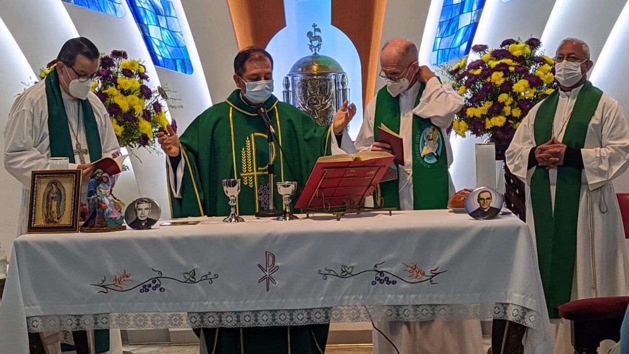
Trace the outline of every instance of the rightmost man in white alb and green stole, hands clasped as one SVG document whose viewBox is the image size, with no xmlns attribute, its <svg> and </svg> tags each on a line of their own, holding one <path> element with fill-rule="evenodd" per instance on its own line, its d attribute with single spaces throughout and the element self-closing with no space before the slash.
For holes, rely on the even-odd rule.
<svg viewBox="0 0 629 354">
<path fill-rule="evenodd" d="M 509 170 L 530 191 L 526 221 L 537 243 L 555 353 L 573 351 L 561 304 L 629 294 L 625 234 L 611 184 L 627 169 L 629 127 L 618 101 L 587 80 L 593 65 L 584 41 L 563 40 L 555 57 L 560 90 L 531 109 L 506 152 Z"/>
</svg>

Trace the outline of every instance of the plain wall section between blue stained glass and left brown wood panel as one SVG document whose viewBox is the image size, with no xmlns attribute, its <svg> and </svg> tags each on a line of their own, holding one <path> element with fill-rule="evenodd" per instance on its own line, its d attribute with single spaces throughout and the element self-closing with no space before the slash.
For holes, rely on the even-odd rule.
<svg viewBox="0 0 629 354">
<path fill-rule="evenodd" d="M 232 75 L 234 57 L 238 53 L 227 1 L 185 0 L 181 4 L 191 34 L 196 38 L 209 92 L 214 102 L 224 101 L 236 88 Z"/>
</svg>

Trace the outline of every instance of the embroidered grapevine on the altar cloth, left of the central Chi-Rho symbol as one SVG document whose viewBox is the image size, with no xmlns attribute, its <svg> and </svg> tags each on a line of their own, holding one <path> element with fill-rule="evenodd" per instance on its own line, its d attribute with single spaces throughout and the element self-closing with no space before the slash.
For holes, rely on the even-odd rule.
<svg viewBox="0 0 629 354">
<path fill-rule="evenodd" d="M 109 294 L 110 290 L 115 292 L 129 292 L 138 288 L 140 294 L 145 294 L 150 291 L 165 292 L 166 288 L 164 287 L 163 282 L 166 280 L 174 280 L 175 282 L 179 282 L 181 284 L 197 284 L 200 282 L 208 282 L 208 284 L 212 284 L 214 279 L 218 278 L 218 274 L 212 274 L 212 272 L 208 271 L 206 274 L 201 275 L 201 277 L 197 279 L 196 269 L 194 268 L 192 268 L 189 272 L 184 272 L 182 274 L 182 279 L 166 277 L 160 270 L 153 268 L 152 270 L 155 272 L 155 276 L 143 280 L 132 287 L 129 287 L 128 283 L 133 282 L 133 278 L 131 277 L 131 273 L 127 273 L 126 270 L 123 270 L 123 273 L 120 275 L 114 274 L 111 282 L 107 282 L 107 277 L 104 276 L 100 283 L 89 285 L 99 288 L 98 294 Z"/>
</svg>

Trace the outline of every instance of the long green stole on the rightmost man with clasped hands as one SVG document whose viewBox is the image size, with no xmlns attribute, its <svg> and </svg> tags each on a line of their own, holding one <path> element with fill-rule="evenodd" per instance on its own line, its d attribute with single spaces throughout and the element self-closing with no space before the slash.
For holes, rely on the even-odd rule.
<svg viewBox="0 0 629 354">
<path fill-rule="evenodd" d="M 603 91 L 586 81 L 565 128 L 562 143 L 581 149 L 587 126 L 598 107 Z M 559 102 L 559 91 L 545 99 L 535 116 L 535 144 L 552 138 L 552 126 Z M 581 169 L 559 166 L 552 209 L 548 170 L 538 167 L 531 178 L 531 204 L 535 220 L 537 257 L 550 318 L 559 318 L 559 306 L 570 301 L 577 248 L 577 219 L 581 195 Z"/>
</svg>

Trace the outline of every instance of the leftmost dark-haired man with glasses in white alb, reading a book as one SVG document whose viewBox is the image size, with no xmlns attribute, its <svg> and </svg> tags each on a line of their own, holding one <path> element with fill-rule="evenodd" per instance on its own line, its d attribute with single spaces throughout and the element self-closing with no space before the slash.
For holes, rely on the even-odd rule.
<svg viewBox="0 0 629 354">
<path fill-rule="evenodd" d="M 98 64 L 94 43 L 84 37 L 66 41 L 55 69 L 20 94 L 9 112 L 4 168 L 22 183 L 18 235 L 26 231 L 31 171 L 47 170 L 51 157 L 67 157 L 69 168 L 81 169 L 87 180 L 93 169 L 90 162 L 118 155 L 120 147 L 107 110 L 90 92 Z M 97 338 L 103 340 L 97 340 L 96 346 L 108 337 L 109 333 L 99 332 Z M 119 331 L 111 336 L 111 344 L 111 352 L 121 352 Z"/>
</svg>

